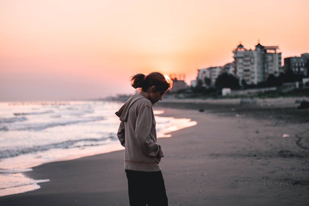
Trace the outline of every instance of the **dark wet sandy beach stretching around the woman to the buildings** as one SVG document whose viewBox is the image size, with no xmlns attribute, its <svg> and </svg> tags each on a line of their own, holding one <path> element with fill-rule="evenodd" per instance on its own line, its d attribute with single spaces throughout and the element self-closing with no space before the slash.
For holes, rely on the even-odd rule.
<svg viewBox="0 0 309 206">
<path fill-rule="evenodd" d="M 169 205 L 309 205 L 309 109 L 298 99 L 169 100 L 159 116 L 197 125 L 159 138 Z M 129 205 L 124 150 L 51 162 L 24 173 L 40 189 L 0 205 Z"/>
</svg>

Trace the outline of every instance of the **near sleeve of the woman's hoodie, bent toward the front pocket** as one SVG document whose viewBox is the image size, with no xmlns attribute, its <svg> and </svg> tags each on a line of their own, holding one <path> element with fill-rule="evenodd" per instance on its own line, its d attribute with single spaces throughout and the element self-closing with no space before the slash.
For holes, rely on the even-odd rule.
<svg viewBox="0 0 309 206">
<path fill-rule="evenodd" d="M 150 138 L 149 134 L 151 127 L 153 127 L 151 107 L 142 107 L 138 112 L 136 120 L 135 137 L 138 139 L 142 150 L 147 155 L 152 157 L 163 157 L 161 145 Z"/>
</svg>

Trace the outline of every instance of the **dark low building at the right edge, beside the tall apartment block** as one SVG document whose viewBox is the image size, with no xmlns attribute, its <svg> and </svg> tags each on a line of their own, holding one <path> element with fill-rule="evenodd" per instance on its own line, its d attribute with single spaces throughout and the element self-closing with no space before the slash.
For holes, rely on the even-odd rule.
<svg viewBox="0 0 309 206">
<path fill-rule="evenodd" d="M 300 57 L 284 58 L 284 72 L 292 70 L 294 74 L 308 75 L 309 54 L 304 53 Z"/>
</svg>

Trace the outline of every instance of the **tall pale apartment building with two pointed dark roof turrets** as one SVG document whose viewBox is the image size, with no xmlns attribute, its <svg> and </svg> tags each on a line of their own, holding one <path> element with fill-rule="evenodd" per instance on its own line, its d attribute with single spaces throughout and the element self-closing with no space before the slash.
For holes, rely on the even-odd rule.
<svg viewBox="0 0 309 206">
<path fill-rule="evenodd" d="M 266 81 L 269 74 L 276 77 L 282 72 L 281 53 L 278 46 L 262 46 L 258 43 L 255 50 L 246 49 L 239 44 L 234 49 L 235 74 L 241 84 L 257 84 Z"/>
</svg>

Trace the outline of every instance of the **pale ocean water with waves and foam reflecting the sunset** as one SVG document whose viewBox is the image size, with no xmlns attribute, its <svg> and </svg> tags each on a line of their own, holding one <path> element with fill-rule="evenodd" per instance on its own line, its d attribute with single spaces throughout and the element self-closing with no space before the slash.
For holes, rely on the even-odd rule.
<svg viewBox="0 0 309 206">
<path fill-rule="evenodd" d="M 0 102 L 0 197 L 40 188 L 49 179 L 24 175 L 48 162 L 76 159 L 124 149 L 118 141 L 112 101 Z M 154 110 L 157 137 L 197 124 L 190 119 L 160 117 Z"/>
</svg>

